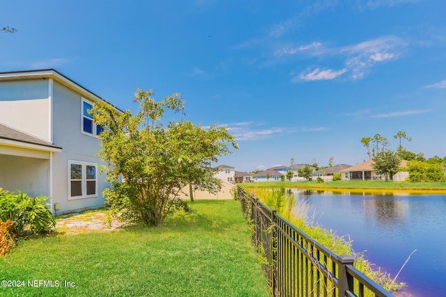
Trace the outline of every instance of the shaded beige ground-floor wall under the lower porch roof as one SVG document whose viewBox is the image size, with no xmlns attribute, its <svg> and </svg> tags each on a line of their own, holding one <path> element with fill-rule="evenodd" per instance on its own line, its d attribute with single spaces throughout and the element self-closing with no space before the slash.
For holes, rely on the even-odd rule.
<svg viewBox="0 0 446 297">
<path fill-rule="evenodd" d="M 0 188 L 49 196 L 49 159 L 0 154 Z"/>
</svg>

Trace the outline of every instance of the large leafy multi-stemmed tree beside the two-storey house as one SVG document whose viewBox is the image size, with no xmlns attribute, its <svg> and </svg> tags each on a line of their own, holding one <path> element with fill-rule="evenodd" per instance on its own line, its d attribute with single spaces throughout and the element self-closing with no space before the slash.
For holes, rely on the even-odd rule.
<svg viewBox="0 0 446 297">
<path fill-rule="evenodd" d="M 161 119 L 166 111 L 183 113 L 183 101 L 174 94 L 157 102 L 152 90 L 138 90 L 130 111 L 117 114 L 113 106 L 96 103 L 93 117 L 104 128 L 100 134 L 100 156 L 111 188 L 105 190 L 107 202 L 124 218 L 159 225 L 167 215 L 186 209 L 179 193 L 187 184 L 210 188 L 220 186 L 211 163 L 229 154 L 237 144 L 225 128 L 205 129 L 185 120 Z M 123 182 L 121 182 L 123 179 Z"/>
</svg>

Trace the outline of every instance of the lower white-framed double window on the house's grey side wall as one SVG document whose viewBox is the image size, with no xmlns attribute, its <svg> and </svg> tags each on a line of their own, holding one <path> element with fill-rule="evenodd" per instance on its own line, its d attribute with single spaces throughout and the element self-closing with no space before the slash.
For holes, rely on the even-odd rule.
<svg viewBox="0 0 446 297">
<path fill-rule="evenodd" d="M 96 197 L 97 193 L 97 164 L 80 161 L 68 161 L 69 199 Z"/>
</svg>

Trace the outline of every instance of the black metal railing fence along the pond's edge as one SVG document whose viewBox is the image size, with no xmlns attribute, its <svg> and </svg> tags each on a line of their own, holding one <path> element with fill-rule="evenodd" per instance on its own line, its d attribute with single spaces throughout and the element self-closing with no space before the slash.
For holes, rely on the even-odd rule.
<svg viewBox="0 0 446 297">
<path fill-rule="evenodd" d="M 353 257 L 330 252 L 243 188 L 238 198 L 272 296 L 393 296 L 353 267 Z"/>
</svg>

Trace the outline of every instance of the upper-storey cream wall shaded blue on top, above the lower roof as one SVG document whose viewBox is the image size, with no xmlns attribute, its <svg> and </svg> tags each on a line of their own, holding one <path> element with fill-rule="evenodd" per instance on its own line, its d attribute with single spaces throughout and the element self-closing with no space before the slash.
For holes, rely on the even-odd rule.
<svg viewBox="0 0 446 297">
<path fill-rule="evenodd" d="M 48 82 L 47 79 L 0 82 L 0 122 L 51 141 Z"/>
</svg>

